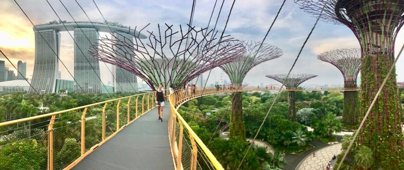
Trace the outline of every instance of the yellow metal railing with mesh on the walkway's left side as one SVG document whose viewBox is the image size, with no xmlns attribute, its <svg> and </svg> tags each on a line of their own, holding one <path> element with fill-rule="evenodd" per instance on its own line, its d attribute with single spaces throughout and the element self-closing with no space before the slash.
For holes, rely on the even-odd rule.
<svg viewBox="0 0 404 170">
<path fill-rule="evenodd" d="M 136 94 L 0 123 L 0 132 L 2 132 L 0 149 L 8 146 L 13 149 L 20 149 L 15 148 L 15 146 L 21 142 L 32 143 L 35 140 L 35 144 L 29 145 L 33 147 L 30 150 L 34 151 L 40 146 L 47 150 L 44 159 L 37 158 L 38 154 L 36 153 L 28 152 L 21 155 L 20 158 L 26 160 L 21 160 L 7 168 L 70 169 L 127 125 L 154 108 L 156 106 L 154 97 L 155 92 Z M 120 109 L 125 107 L 126 109 Z M 27 130 L 27 124 L 29 130 Z M 31 126 L 35 128 L 31 129 Z M 28 133 L 29 135 L 27 135 Z M 68 143 L 66 139 L 77 142 L 69 145 L 69 147 L 73 147 L 69 148 L 64 146 Z M 39 162 L 30 162 L 30 159 L 38 159 Z M 5 165 L 0 164 L 0 168 L 2 166 Z"/>
</svg>

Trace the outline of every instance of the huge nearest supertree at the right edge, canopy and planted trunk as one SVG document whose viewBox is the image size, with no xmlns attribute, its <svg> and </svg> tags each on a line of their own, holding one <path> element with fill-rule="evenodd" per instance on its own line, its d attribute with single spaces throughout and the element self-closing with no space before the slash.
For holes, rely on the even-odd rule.
<svg viewBox="0 0 404 170">
<path fill-rule="evenodd" d="M 344 24 L 361 45 L 361 116 L 394 62 L 394 42 L 402 27 L 404 0 L 295 0 L 301 9 L 325 22 Z M 324 7 L 324 11 L 321 13 Z M 400 128 L 395 69 L 382 89 L 359 133 L 358 143 L 371 148 L 372 169 L 403 169 L 404 147 Z"/>
</svg>

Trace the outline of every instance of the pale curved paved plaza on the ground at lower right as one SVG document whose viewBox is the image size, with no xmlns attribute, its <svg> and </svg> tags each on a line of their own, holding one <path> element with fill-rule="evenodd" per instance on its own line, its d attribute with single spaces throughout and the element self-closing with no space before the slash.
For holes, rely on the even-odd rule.
<svg viewBox="0 0 404 170">
<path fill-rule="evenodd" d="M 326 169 L 327 163 L 332 159 L 332 156 L 341 153 L 341 147 L 341 144 L 338 143 L 317 150 L 315 156 L 313 156 L 312 152 L 297 165 L 296 170 Z"/>
</svg>

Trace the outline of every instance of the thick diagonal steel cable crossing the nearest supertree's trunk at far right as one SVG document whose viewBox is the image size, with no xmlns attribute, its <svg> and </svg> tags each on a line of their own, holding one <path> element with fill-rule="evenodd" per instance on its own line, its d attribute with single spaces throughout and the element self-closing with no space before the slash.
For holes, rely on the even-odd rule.
<svg viewBox="0 0 404 170">
<path fill-rule="evenodd" d="M 377 91 L 375 97 L 373 98 L 372 103 L 370 104 L 368 110 L 366 111 L 365 117 L 363 118 L 361 124 L 359 125 L 358 130 L 356 131 L 356 133 L 355 133 L 354 137 L 352 138 L 352 140 L 349 142 L 348 148 L 347 148 L 346 151 L 344 152 L 344 155 L 342 156 L 342 159 L 341 159 L 341 161 L 339 162 L 338 167 L 337 167 L 336 170 L 339 170 L 339 168 L 341 167 L 342 162 L 344 161 L 346 155 L 348 154 L 350 148 L 352 147 L 352 144 L 354 144 L 354 142 L 355 142 L 355 140 L 356 140 L 356 138 L 357 138 L 359 132 L 361 131 L 361 129 L 362 129 L 363 126 L 365 125 L 365 121 L 366 121 L 366 119 L 368 118 L 368 116 L 369 116 L 369 114 L 370 114 L 370 111 L 371 111 L 372 108 L 373 108 L 373 105 L 376 103 L 376 100 L 377 100 L 377 98 L 379 97 L 380 92 L 382 91 L 384 85 L 386 84 L 387 79 L 390 77 L 391 72 L 394 70 L 395 64 L 397 63 L 398 58 L 400 58 L 400 55 L 401 55 L 401 52 L 402 52 L 403 49 L 404 49 L 404 44 L 401 46 L 401 49 L 400 49 L 400 51 L 398 52 L 398 55 L 397 55 L 397 57 L 395 58 L 394 63 L 391 65 L 390 70 L 388 71 L 386 77 L 385 77 L 384 80 L 383 80 L 383 83 L 382 83 L 381 86 L 379 87 L 379 90 Z"/>
</svg>

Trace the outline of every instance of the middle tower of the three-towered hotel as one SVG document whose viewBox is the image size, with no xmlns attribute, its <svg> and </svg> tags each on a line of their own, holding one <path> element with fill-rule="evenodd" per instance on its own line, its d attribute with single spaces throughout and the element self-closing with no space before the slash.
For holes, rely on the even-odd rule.
<svg viewBox="0 0 404 170">
<path fill-rule="evenodd" d="M 98 60 L 91 57 L 89 48 L 98 41 L 94 28 L 74 28 L 74 92 L 101 93 Z M 80 88 L 81 87 L 81 88 Z"/>
</svg>

